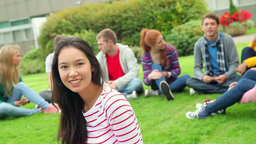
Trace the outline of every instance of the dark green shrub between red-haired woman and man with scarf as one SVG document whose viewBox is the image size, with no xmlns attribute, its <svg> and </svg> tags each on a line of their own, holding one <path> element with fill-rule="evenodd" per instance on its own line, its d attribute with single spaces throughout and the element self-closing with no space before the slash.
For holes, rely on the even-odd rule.
<svg viewBox="0 0 256 144">
<path fill-rule="evenodd" d="M 194 44 L 203 34 L 201 20 L 192 20 L 175 26 L 165 40 L 176 47 L 179 56 L 188 56 L 193 54 Z"/>
</svg>

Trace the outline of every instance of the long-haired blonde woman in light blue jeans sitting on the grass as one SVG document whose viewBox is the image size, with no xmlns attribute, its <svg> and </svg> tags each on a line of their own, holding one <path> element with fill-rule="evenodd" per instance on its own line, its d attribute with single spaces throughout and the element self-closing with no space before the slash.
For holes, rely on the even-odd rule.
<svg viewBox="0 0 256 144">
<path fill-rule="evenodd" d="M 19 72 L 21 61 L 20 47 L 6 45 L 0 50 L 0 119 L 6 116 L 29 116 L 36 112 L 56 113 L 58 110 L 29 88 Z M 25 98 L 21 99 L 24 95 Z M 20 106 L 34 102 L 41 108 L 28 109 Z"/>
</svg>

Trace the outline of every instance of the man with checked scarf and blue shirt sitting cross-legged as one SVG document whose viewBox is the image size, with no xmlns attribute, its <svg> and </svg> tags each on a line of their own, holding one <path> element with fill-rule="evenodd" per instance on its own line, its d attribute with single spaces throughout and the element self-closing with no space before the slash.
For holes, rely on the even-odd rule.
<svg viewBox="0 0 256 144">
<path fill-rule="evenodd" d="M 195 93 L 224 93 L 238 81 L 238 53 L 232 37 L 218 32 L 219 18 L 213 13 L 202 19 L 204 36 L 194 45 L 194 75 L 186 80 L 190 95 Z M 204 72 L 202 71 L 204 68 Z"/>
</svg>

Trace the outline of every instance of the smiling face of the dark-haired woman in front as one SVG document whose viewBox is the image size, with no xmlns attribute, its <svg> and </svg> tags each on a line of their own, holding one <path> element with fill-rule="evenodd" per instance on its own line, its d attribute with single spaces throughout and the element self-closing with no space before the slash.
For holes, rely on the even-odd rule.
<svg viewBox="0 0 256 144">
<path fill-rule="evenodd" d="M 77 48 L 64 48 L 58 57 L 58 70 L 63 84 L 73 92 L 82 92 L 92 84 L 92 66 Z"/>
</svg>

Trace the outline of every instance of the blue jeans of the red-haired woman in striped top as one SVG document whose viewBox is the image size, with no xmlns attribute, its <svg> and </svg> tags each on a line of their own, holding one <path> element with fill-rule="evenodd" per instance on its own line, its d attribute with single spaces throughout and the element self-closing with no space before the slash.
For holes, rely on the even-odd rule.
<svg viewBox="0 0 256 144">
<path fill-rule="evenodd" d="M 152 70 L 158 70 L 159 72 L 162 72 L 162 66 L 160 64 L 154 63 L 152 65 Z M 190 76 L 188 74 L 184 74 L 180 78 L 177 78 L 176 80 L 174 80 L 173 82 L 171 82 L 169 84 L 170 90 L 172 92 L 182 91 L 186 87 L 186 80 L 188 78 L 190 78 Z M 162 76 L 159 79 L 153 80 L 152 85 L 151 85 L 151 88 L 153 90 L 158 90 L 159 94 L 162 94 L 162 92 L 160 92 L 159 88 L 160 88 L 160 82 L 162 82 L 163 80 L 165 81 L 164 76 Z"/>
</svg>

